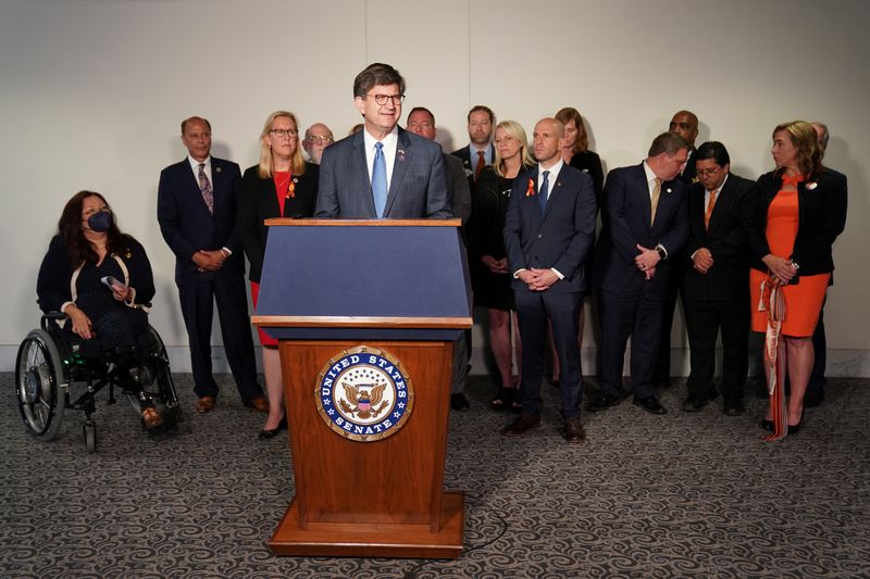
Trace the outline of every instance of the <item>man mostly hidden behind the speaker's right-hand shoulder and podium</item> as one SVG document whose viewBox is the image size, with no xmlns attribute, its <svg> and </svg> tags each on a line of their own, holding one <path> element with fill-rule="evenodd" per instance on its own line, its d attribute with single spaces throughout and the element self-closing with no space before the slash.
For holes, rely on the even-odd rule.
<svg viewBox="0 0 870 579">
<path fill-rule="evenodd" d="M 435 115 L 425 106 L 414 106 L 408 113 L 408 130 L 414 135 L 435 140 Z M 444 164 L 447 167 L 447 192 L 450 196 L 450 210 L 453 216 L 462 221 L 464 227 L 471 217 L 471 190 L 465 180 L 465 171 L 462 162 L 447 153 L 443 153 Z M 465 398 L 465 377 L 469 368 L 468 333 L 462 332 L 453 343 L 453 376 L 450 387 L 450 407 L 455 411 L 465 411 L 471 407 Z"/>
</svg>

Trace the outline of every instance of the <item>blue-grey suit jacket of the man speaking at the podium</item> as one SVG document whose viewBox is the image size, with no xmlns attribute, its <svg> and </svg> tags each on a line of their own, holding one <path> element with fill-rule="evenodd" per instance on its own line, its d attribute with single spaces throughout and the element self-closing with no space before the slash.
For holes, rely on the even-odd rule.
<svg viewBox="0 0 870 579">
<path fill-rule="evenodd" d="M 323 150 L 315 217 L 377 218 L 363 130 Z M 451 216 L 440 146 L 399 127 L 384 217 L 444 219 Z"/>
</svg>

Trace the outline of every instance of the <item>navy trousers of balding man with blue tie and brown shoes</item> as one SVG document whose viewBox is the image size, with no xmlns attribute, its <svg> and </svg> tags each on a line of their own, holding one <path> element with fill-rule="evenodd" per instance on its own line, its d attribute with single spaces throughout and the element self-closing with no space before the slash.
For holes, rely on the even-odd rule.
<svg viewBox="0 0 870 579">
<path fill-rule="evenodd" d="M 544 379 L 547 319 L 559 356 L 559 389 L 563 418 L 580 416 L 582 369 L 577 347 L 577 315 L 583 303 L 580 292 L 556 293 L 517 290 L 517 319 L 523 342 L 520 402 L 524 414 L 540 414 L 540 380 Z"/>
</svg>

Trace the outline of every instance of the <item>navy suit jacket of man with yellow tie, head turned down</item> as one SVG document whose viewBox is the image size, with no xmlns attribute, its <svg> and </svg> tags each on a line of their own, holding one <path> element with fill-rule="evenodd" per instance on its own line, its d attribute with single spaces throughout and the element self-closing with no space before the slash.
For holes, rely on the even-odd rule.
<svg viewBox="0 0 870 579">
<path fill-rule="evenodd" d="M 688 236 L 685 185 L 675 178 L 661 184 L 656 222 L 650 224 L 649 200 L 644 165 L 614 168 L 607 174 L 601 223 L 604 225 L 594 256 L 594 279 L 607 291 L 622 291 L 632 276 L 645 277 L 634 259 L 641 244 L 652 249 L 661 243 L 669 257 L 675 257 Z M 656 266 L 649 281 L 650 297 L 663 298 L 670 279 L 670 260 Z"/>
</svg>

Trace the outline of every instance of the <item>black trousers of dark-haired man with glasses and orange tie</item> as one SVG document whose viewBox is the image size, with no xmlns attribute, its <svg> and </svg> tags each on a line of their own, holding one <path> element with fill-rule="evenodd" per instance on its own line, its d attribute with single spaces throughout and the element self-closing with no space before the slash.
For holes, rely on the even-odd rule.
<svg viewBox="0 0 870 579">
<path fill-rule="evenodd" d="M 685 301 L 692 369 L 689 395 L 713 391 L 716 341 L 722 333 L 722 395 L 739 401 L 749 368 L 749 295 L 736 300 Z"/>
</svg>

